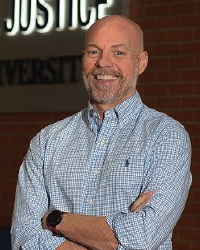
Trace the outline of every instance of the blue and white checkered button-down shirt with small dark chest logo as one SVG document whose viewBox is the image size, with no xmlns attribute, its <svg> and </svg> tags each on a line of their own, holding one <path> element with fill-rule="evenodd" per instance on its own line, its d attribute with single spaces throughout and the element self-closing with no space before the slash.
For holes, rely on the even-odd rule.
<svg viewBox="0 0 200 250">
<path fill-rule="evenodd" d="M 106 111 L 89 104 L 44 128 L 19 171 L 13 250 L 53 250 L 65 239 L 41 228 L 48 209 L 106 216 L 118 249 L 170 250 L 172 230 L 191 185 L 191 145 L 183 126 L 146 107 L 139 94 Z M 141 192 L 152 200 L 129 206 Z"/>
</svg>

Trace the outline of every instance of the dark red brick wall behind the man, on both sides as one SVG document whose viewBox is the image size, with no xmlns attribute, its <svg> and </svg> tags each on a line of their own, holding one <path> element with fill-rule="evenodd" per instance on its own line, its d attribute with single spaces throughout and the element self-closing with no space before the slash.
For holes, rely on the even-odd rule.
<svg viewBox="0 0 200 250">
<path fill-rule="evenodd" d="M 191 135 L 193 185 L 174 231 L 174 250 L 200 249 L 200 1 L 130 0 L 145 35 L 144 102 L 181 121 Z M 0 227 L 10 225 L 19 165 L 30 139 L 70 113 L 0 113 Z"/>
</svg>

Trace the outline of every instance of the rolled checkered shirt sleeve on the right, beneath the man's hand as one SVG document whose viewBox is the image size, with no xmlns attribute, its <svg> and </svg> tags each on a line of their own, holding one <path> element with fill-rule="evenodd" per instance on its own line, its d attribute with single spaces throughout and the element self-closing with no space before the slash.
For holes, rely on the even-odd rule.
<svg viewBox="0 0 200 250">
<path fill-rule="evenodd" d="M 157 249 L 170 239 L 184 209 L 191 185 L 191 144 L 181 125 L 160 133 L 148 156 L 143 192 L 153 191 L 152 200 L 139 212 L 108 215 L 120 249 Z"/>
</svg>

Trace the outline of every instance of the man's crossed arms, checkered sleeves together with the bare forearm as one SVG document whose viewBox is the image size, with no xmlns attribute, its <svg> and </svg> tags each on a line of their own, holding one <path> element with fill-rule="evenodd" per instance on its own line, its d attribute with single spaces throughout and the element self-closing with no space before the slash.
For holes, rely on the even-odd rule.
<svg viewBox="0 0 200 250">
<path fill-rule="evenodd" d="M 147 206 L 138 213 L 119 209 L 115 214 L 107 213 L 106 218 L 66 214 L 57 230 L 67 241 L 52 237 L 49 230 L 41 227 L 40 219 L 49 208 L 43 178 L 44 141 L 42 136 L 34 139 L 20 169 L 12 224 L 13 250 L 20 247 L 23 250 L 156 249 L 166 239 L 170 241 L 191 185 L 190 143 L 185 132 L 167 127 L 156 141 L 151 157 L 147 157 L 150 167 L 146 166 L 149 171 L 144 176 L 141 192 L 152 190 L 154 194 Z M 120 201 L 121 196 L 117 202 Z M 55 200 L 51 204 L 61 209 L 59 206 Z"/>
</svg>

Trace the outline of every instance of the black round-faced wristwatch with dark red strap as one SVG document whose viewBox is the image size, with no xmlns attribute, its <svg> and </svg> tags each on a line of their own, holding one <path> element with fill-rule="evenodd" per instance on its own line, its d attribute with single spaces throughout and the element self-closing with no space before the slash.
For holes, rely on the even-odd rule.
<svg viewBox="0 0 200 250">
<path fill-rule="evenodd" d="M 61 222 L 63 214 L 64 212 L 61 212 L 59 210 L 53 210 L 48 214 L 46 218 L 46 224 L 48 226 L 48 229 L 53 233 L 53 236 L 64 236 L 56 230 L 56 226 Z"/>
</svg>

